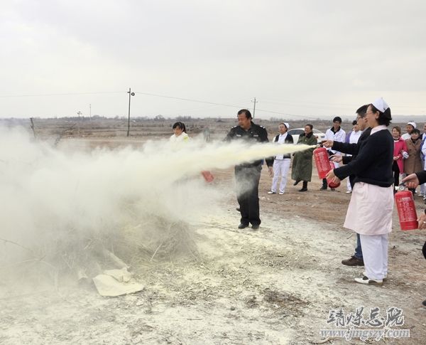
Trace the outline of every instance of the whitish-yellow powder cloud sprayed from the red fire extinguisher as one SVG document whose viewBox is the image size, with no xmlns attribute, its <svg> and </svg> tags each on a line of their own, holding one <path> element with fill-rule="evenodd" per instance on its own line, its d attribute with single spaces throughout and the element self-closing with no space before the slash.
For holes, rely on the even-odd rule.
<svg viewBox="0 0 426 345">
<path fill-rule="evenodd" d="M 223 193 L 201 171 L 298 149 L 306 147 L 192 140 L 182 147 L 163 141 L 85 151 L 0 128 L 0 260 L 72 269 L 99 247 L 119 250 L 126 260 L 148 258 L 161 246 L 166 250 L 165 240 L 177 230 L 184 235 L 180 248 L 190 248 L 187 225 L 220 211 Z"/>
</svg>

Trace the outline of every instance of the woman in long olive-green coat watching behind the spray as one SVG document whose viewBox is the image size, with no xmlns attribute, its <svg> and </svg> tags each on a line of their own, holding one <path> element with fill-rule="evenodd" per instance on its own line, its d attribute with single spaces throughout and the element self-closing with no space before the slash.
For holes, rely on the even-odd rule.
<svg viewBox="0 0 426 345">
<path fill-rule="evenodd" d="M 312 129 L 312 124 L 305 125 L 305 133 L 300 134 L 297 144 L 316 145 L 317 138 Z M 307 191 L 307 183 L 312 177 L 312 152 L 314 148 L 305 151 L 299 151 L 294 154 L 293 167 L 291 169 L 291 178 L 295 180 L 294 186 L 303 181 L 302 189 L 299 191 Z"/>
</svg>

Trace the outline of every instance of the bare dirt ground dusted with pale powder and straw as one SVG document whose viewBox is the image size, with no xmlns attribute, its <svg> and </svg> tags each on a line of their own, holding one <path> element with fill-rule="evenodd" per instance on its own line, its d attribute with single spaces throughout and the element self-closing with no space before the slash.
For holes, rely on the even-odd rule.
<svg viewBox="0 0 426 345">
<path fill-rule="evenodd" d="M 1 288 L 0 344 L 362 344 L 324 337 L 329 311 L 364 307 L 403 309 L 410 339 L 425 344 L 426 233 L 399 230 L 396 211 L 389 239 L 389 275 L 383 287 L 359 285 L 362 267 L 341 264 L 356 236 L 342 227 L 350 195 L 346 184 L 320 191 L 315 174 L 300 193 L 288 179 L 285 194 L 268 195 L 263 169 L 259 230 L 238 230 L 233 170 L 213 171 L 223 189 L 223 213 L 191 224 L 199 258 L 133 267 L 144 290 L 99 296 L 94 287 Z M 425 205 L 416 198 L 417 211 Z M 365 327 L 364 327 L 365 328 Z M 382 342 L 383 340 L 381 340 Z M 368 341 L 374 342 L 374 341 Z"/>
</svg>

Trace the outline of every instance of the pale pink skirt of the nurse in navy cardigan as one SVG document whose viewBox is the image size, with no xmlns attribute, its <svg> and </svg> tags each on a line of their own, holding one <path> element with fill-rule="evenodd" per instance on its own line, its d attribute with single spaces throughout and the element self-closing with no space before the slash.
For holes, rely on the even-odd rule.
<svg viewBox="0 0 426 345">
<path fill-rule="evenodd" d="M 392 231 L 392 212 L 392 186 L 357 182 L 343 226 L 361 235 L 383 235 Z"/>
</svg>

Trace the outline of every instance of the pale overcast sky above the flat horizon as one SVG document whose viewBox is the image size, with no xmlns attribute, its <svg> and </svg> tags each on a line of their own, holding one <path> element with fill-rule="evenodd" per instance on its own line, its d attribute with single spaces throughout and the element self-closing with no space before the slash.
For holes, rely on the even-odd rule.
<svg viewBox="0 0 426 345">
<path fill-rule="evenodd" d="M 133 116 L 256 97 L 256 117 L 330 118 L 378 96 L 426 115 L 425 18 L 423 0 L 1 1 L 0 117 L 127 116 L 129 87 Z"/>
</svg>

